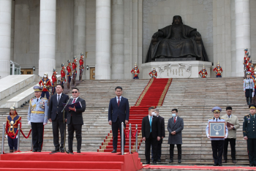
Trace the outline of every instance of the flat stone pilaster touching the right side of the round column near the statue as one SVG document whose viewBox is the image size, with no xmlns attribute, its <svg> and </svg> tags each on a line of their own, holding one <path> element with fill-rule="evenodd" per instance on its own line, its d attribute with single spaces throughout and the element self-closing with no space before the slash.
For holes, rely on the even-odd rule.
<svg viewBox="0 0 256 171">
<path fill-rule="evenodd" d="M 112 79 L 124 79 L 124 0 L 112 0 Z"/>
</svg>

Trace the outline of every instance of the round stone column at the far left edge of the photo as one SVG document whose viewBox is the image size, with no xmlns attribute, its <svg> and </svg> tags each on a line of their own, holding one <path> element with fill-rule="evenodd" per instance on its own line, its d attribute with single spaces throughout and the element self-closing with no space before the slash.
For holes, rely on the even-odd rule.
<svg viewBox="0 0 256 171">
<path fill-rule="evenodd" d="M 12 0 L 0 1 L 0 78 L 10 75 Z"/>
</svg>

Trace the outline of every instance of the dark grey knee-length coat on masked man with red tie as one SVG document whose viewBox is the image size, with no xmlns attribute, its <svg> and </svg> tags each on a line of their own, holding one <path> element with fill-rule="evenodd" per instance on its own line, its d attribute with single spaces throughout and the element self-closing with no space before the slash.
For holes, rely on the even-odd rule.
<svg viewBox="0 0 256 171">
<path fill-rule="evenodd" d="M 182 133 L 181 131 L 184 128 L 183 119 L 177 117 L 176 122 L 174 123 L 173 117 L 168 120 L 167 129 L 169 132 L 168 144 L 182 144 Z M 170 134 L 171 132 L 176 131 L 176 134 Z"/>
</svg>

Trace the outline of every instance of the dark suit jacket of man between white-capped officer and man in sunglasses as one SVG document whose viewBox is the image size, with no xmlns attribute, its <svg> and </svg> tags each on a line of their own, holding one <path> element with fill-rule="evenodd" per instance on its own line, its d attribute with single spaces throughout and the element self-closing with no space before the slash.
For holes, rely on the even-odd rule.
<svg viewBox="0 0 256 171">
<path fill-rule="evenodd" d="M 69 96 L 67 94 L 61 94 L 61 99 L 59 99 L 59 104 L 57 101 L 57 94 L 54 94 L 50 97 L 50 104 L 49 104 L 49 110 L 48 110 L 48 118 L 51 118 L 52 121 L 55 121 L 56 115 L 58 114 L 58 118 L 60 121 L 63 121 L 63 113 L 61 113 L 61 110 L 63 110 L 64 106 L 62 103 L 67 103 L 69 100 Z M 67 113 L 65 113 L 65 118 L 67 118 Z"/>
</svg>

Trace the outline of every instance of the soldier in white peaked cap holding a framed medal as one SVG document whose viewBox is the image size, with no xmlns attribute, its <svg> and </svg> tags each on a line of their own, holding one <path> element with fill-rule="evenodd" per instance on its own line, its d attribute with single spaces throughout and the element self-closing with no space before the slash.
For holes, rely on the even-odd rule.
<svg viewBox="0 0 256 171">
<path fill-rule="evenodd" d="M 222 166 L 222 153 L 223 153 L 223 145 L 224 140 L 227 138 L 228 129 L 226 128 L 225 138 L 217 138 L 217 137 L 210 137 L 209 135 L 209 122 L 225 122 L 223 118 L 219 118 L 219 114 L 222 111 L 220 107 L 214 107 L 211 109 L 211 112 L 214 113 L 214 118 L 210 118 L 208 120 L 206 126 L 206 136 L 211 140 L 211 149 L 212 149 L 212 156 L 214 157 L 214 166 Z"/>
</svg>

